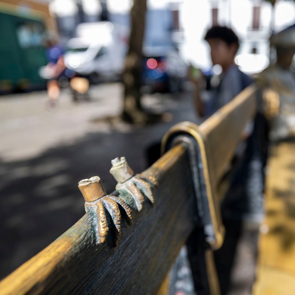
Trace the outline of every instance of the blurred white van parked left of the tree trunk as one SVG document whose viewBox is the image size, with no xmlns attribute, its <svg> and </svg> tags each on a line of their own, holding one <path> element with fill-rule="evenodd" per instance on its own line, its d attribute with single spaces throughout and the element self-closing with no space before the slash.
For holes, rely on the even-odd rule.
<svg viewBox="0 0 295 295">
<path fill-rule="evenodd" d="M 129 28 L 110 22 L 81 23 L 67 43 L 65 65 L 92 83 L 117 79 L 124 68 Z"/>
</svg>

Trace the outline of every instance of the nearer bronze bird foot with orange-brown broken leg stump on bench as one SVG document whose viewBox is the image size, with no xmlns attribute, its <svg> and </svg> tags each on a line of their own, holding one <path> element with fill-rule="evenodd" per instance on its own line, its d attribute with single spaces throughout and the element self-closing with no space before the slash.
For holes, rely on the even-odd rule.
<svg viewBox="0 0 295 295">
<path fill-rule="evenodd" d="M 132 222 L 133 213 L 129 206 L 120 198 L 107 195 L 98 176 L 79 181 L 78 187 L 85 200 L 85 212 L 90 211 L 93 216 L 96 244 L 104 243 L 109 232 L 106 211 L 110 214 L 116 227 L 116 236 L 113 237 L 117 245 L 121 236 L 121 213 L 119 205 L 125 210 L 129 222 Z"/>
</svg>

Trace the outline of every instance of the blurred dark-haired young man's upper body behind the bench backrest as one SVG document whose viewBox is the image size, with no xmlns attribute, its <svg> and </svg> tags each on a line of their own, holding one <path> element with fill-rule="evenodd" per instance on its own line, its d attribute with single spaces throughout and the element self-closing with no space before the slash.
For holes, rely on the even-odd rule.
<svg viewBox="0 0 295 295">
<path fill-rule="evenodd" d="M 223 105 L 231 101 L 244 88 L 252 83 L 252 79 L 241 72 L 234 63 L 234 57 L 239 48 L 238 36 L 228 27 L 213 26 L 204 38 L 209 46 L 213 65 L 219 64 L 222 67 L 220 82 L 210 89 L 210 97 L 206 99 L 204 93 L 205 77 L 199 71 L 191 72 L 190 78 L 195 85 L 194 103 L 200 117 L 210 116 Z"/>
</svg>

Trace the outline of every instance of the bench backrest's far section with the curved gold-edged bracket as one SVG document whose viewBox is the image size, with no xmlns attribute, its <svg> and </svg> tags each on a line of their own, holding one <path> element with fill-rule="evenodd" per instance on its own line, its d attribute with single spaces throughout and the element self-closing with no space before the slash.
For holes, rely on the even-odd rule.
<svg viewBox="0 0 295 295">
<path fill-rule="evenodd" d="M 225 234 L 217 185 L 241 141 L 243 129 L 257 111 L 257 99 L 258 87 L 250 85 L 200 126 L 188 121 L 178 123 L 162 139 L 162 154 L 169 149 L 172 139 L 181 134 L 191 135 L 198 145 L 210 225 L 214 231 L 214 238 L 209 242 L 213 250 L 222 246 Z"/>
</svg>

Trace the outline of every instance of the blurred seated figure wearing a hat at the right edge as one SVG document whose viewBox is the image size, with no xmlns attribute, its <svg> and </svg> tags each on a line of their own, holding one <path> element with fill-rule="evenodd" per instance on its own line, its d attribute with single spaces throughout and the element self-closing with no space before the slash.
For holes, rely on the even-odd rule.
<svg viewBox="0 0 295 295">
<path fill-rule="evenodd" d="M 276 47 L 275 64 L 257 74 L 264 90 L 265 114 L 269 119 L 269 138 L 279 141 L 295 135 L 295 75 L 291 64 L 295 54 L 295 24 L 271 36 Z"/>
</svg>

